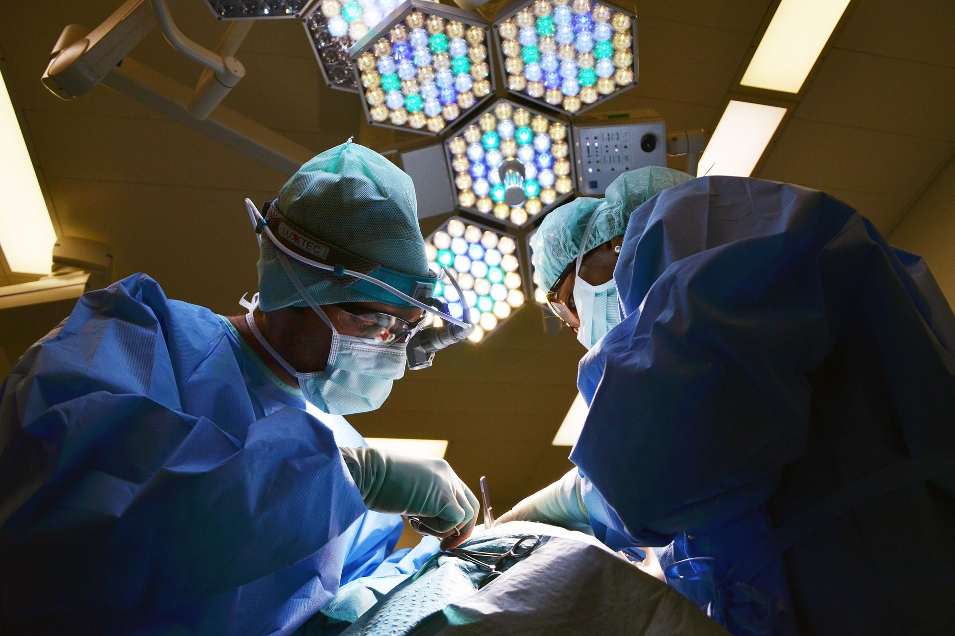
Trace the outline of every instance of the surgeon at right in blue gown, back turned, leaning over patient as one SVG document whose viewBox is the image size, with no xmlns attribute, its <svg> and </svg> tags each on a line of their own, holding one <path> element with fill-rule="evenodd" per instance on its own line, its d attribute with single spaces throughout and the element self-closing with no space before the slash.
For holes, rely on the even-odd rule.
<svg viewBox="0 0 955 636">
<path fill-rule="evenodd" d="M 950 633 L 955 316 L 932 275 L 824 193 L 665 174 L 541 223 L 589 412 L 577 468 L 499 520 L 654 548 L 735 634 Z M 631 207 L 634 186 L 657 194 Z"/>
</svg>

